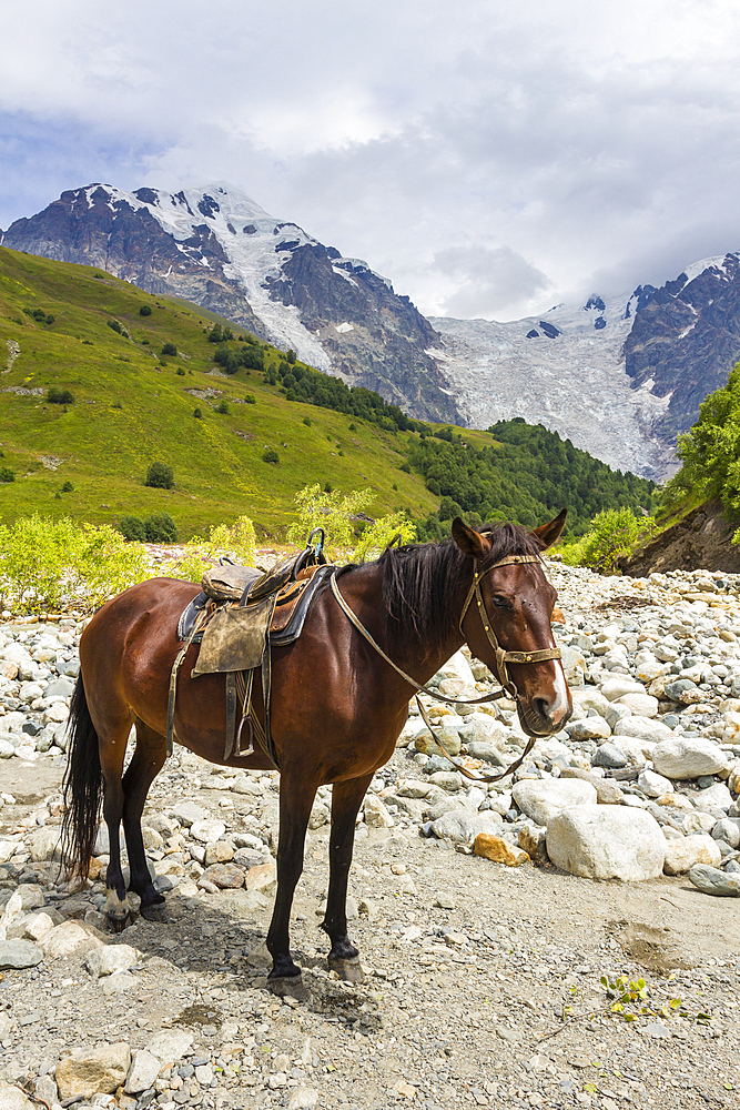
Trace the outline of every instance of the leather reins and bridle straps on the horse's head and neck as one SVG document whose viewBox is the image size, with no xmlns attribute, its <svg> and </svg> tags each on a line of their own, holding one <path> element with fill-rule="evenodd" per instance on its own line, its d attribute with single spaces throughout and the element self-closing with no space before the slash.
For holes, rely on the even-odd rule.
<svg viewBox="0 0 740 1110">
<path fill-rule="evenodd" d="M 357 617 L 357 615 L 349 608 L 349 606 L 345 602 L 344 597 L 339 593 L 339 587 L 336 582 L 336 571 L 330 578 L 330 586 L 332 588 L 332 593 L 334 594 L 334 597 L 336 598 L 336 602 L 342 612 L 345 614 L 351 624 L 354 625 L 354 627 L 357 629 L 361 636 L 363 636 L 371 645 L 371 647 L 375 652 L 377 652 L 381 658 L 384 659 L 391 667 L 393 667 L 396 674 L 401 675 L 401 677 L 405 682 L 407 682 L 410 686 L 414 686 L 416 688 L 416 690 L 418 692 L 416 694 L 416 704 L 418 706 L 422 717 L 424 718 L 425 725 L 427 726 L 427 728 L 432 733 L 432 736 L 434 737 L 435 743 L 438 745 L 440 750 L 445 754 L 446 758 L 455 767 L 455 769 L 458 770 L 460 775 L 464 775 L 466 778 L 472 779 L 472 781 L 474 783 L 496 783 L 499 779 L 505 778 L 507 775 L 510 775 L 513 771 L 515 771 L 518 767 L 521 766 L 525 758 L 529 755 L 533 747 L 535 746 L 535 743 L 537 741 L 538 737 L 530 736 L 527 746 L 519 756 L 519 758 L 515 760 L 515 763 L 513 763 L 509 767 L 507 767 L 506 770 L 501 771 L 500 775 L 473 775 L 462 764 L 456 763 L 455 758 L 449 754 L 440 736 L 435 731 L 435 728 L 432 722 L 429 720 L 418 695 L 427 694 L 429 697 L 435 698 L 435 700 L 445 702 L 447 705 L 457 705 L 457 704 L 480 705 L 485 702 L 496 702 L 498 698 L 507 696 L 514 698 L 515 702 L 520 703 L 521 697 L 509 675 L 507 663 L 517 663 L 517 664 L 544 663 L 546 659 L 561 658 L 561 653 L 558 647 L 547 647 L 538 652 L 506 652 L 500 646 L 498 639 L 496 638 L 496 633 L 493 629 L 490 618 L 488 616 L 488 612 L 486 609 L 486 605 L 483 599 L 483 594 L 480 592 L 480 582 L 490 571 L 495 571 L 499 566 L 509 566 L 511 564 L 540 563 L 540 562 L 541 559 L 537 555 L 508 555 L 506 558 L 499 559 L 498 563 L 493 563 L 490 566 L 485 567 L 481 571 L 480 563 L 478 562 L 478 559 L 475 561 L 473 569 L 473 582 L 470 584 L 470 588 L 468 589 L 465 603 L 463 605 L 463 612 L 460 613 L 458 627 L 460 634 L 463 635 L 463 638 L 467 639 L 467 637 L 465 636 L 465 632 L 463 629 L 463 622 L 465 620 L 467 612 L 473 603 L 473 599 L 475 598 L 478 607 L 478 614 L 480 616 L 480 623 L 483 624 L 483 630 L 485 632 L 488 643 L 490 644 L 495 653 L 494 666 L 496 669 L 496 679 L 500 683 L 501 689 L 495 690 L 493 694 L 486 694 L 484 697 L 472 698 L 472 699 L 459 698 L 459 697 L 457 698 L 446 697 L 444 694 L 440 694 L 439 690 L 437 689 L 433 689 L 428 686 L 420 686 L 414 678 L 410 677 L 410 675 L 407 675 L 405 670 L 402 670 L 401 667 L 398 667 L 393 662 L 393 659 L 386 655 L 386 653 L 383 650 L 377 640 L 371 635 L 367 628 L 365 628 L 359 617 Z"/>
</svg>

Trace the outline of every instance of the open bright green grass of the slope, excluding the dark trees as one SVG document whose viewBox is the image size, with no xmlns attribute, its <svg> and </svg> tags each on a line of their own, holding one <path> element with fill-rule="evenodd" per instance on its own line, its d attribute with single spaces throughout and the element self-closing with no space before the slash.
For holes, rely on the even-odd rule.
<svg viewBox="0 0 740 1110">
<path fill-rule="evenodd" d="M 152 306 L 151 316 L 139 314 L 142 304 Z M 36 307 L 53 314 L 54 323 L 23 313 Z M 295 492 L 316 481 L 343 491 L 372 487 L 369 512 L 377 515 L 408 507 L 420 517 L 436 507 L 423 480 L 398 468 L 407 435 L 356 418 L 351 432 L 352 417 L 288 402 L 255 371 L 210 374 L 214 347 L 203 329 L 213 319 L 102 271 L 0 248 L 0 466 L 16 472 L 13 483 L 0 483 L 0 519 L 38 511 L 115 523 L 123 514 L 166 509 L 182 536 L 240 514 L 274 533 L 293 518 Z M 131 339 L 112 331 L 109 320 Z M 9 371 L 7 340 L 21 349 Z M 163 366 L 156 356 L 168 341 L 179 353 Z M 267 347 L 265 365 L 278 360 Z M 67 412 L 43 396 L 7 392 L 24 386 L 45 393 L 52 385 L 74 394 Z M 209 403 L 185 392 L 209 387 L 223 391 L 229 415 L 213 410 L 221 398 Z M 236 403 L 245 393 L 257 403 Z M 202 420 L 193 416 L 196 406 Z M 490 442 L 486 433 L 466 435 Z M 278 452 L 278 465 L 262 462 L 266 446 Z M 61 462 L 50 470 L 44 458 Z M 175 490 L 143 485 L 154 460 L 174 468 Z M 57 497 L 67 481 L 74 491 Z"/>
</svg>

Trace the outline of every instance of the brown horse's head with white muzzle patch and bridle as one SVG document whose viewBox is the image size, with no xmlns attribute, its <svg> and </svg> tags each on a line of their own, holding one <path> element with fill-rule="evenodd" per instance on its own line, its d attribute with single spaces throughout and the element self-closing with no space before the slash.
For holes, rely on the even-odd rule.
<svg viewBox="0 0 740 1110">
<path fill-rule="evenodd" d="M 453 522 L 455 543 L 473 558 L 460 628 L 473 654 L 516 696 L 529 736 L 557 733 L 572 713 L 550 624 L 558 595 L 538 557 L 557 541 L 565 521 L 562 509 L 534 532 L 506 526 L 500 534 L 476 532 L 459 517 Z"/>
</svg>

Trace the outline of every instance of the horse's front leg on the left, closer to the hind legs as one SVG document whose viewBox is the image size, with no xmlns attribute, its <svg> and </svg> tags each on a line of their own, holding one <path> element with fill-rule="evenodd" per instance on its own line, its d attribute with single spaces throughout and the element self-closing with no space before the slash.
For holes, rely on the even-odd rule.
<svg viewBox="0 0 740 1110">
<path fill-rule="evenodd" d="M 280 837 L 277 840 L 277 894 L 270 930 L 267 950 L 273 958 L 270 979 L 288 979 L 301 975 L 291 958 L 288 925 L 293 894 L 303 871 L 303 852 L 311 808 L 316 786 L 311 786 L 300 773 L 283 771 L 280 786 Z"/>
</svg>

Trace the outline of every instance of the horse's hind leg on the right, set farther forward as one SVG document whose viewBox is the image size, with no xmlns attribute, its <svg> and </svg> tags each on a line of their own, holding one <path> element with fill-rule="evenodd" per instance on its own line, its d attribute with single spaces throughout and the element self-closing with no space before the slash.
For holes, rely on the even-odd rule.
<svg viewBox="0 0 740 1110">
<path fill-rule="evenodd" d="M 164 896 L 155 890 L 146 866 L 141 815 L 149 788 L 161 771 L 165 758 L 164 737 L 136 718 L 136 748 L 123 776 L 123 831 L 131 871 L 129 887 L 141 898 L 143 917 L 148 917 L 153 907 L 161 906 L 164 901 Z"/>
</svg>

